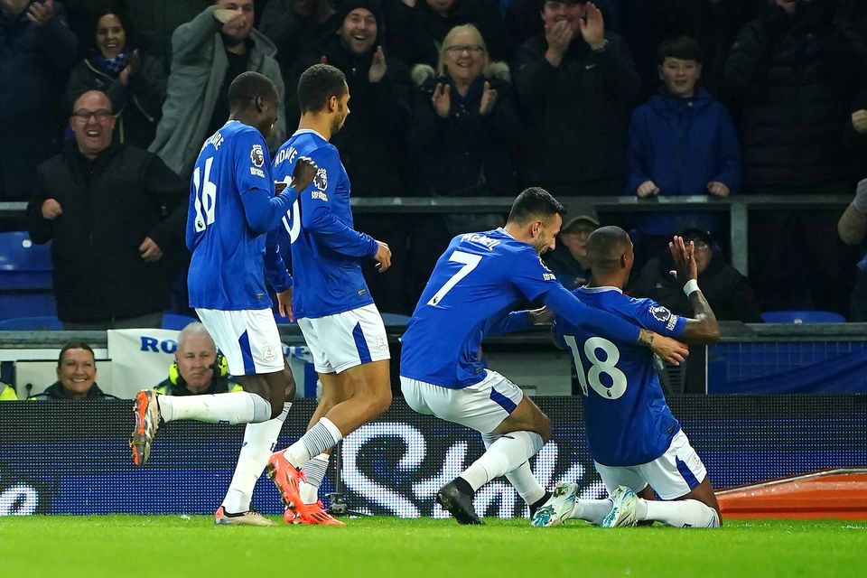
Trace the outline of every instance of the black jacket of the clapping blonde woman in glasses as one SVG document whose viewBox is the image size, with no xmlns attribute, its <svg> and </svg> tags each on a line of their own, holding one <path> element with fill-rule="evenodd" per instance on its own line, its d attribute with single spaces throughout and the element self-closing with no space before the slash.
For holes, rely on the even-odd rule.
<svg viewBox="0 0 867 578">
<path fill-rule="evenodd" d="M 520 139 L 515 100 L 508 66 L 493 62 L 482 71 L 465 97 L 452 85 L 452 109 L 440 117 L 431 98 L 437 83 L 433 69 L 417 65 L 413 117 L 409 127 L 410 150 L 417 167 L 416 191 L 422 195 L 457 196 L 515 194 L 513 156 Z M 484 82 L 497 90 L 493 110 L 479 113 Z"/>
</svg>

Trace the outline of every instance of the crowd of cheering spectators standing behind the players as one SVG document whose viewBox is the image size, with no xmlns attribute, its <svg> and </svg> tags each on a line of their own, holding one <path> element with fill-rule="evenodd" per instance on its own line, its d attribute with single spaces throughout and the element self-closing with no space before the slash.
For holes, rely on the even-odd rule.
<svg viewBox="0 0 867 578">
<path fill-rule="evenodd" d="M 25 222 L 3 226 L 53 239 L 69 327 L 158 324 L 170 303 L 189 312 L 186 183 L 228 117 L 229 84 L 246 70 L 274 81 L 275 151 L 316 62 L 350 87 L 352 114 L 332 143 L 355 197 L 512 197 L 527 186 L 561 197 L 852 195 L 867 176 L 865 38 L 856 0 L 0 0 L 0 200 L 29 202 Z M 708 252 L 700 275 L 737 301 L 712 303 L 721 320 L 821 309 L 863 321 L 862 289 L 850 312 L 862 237 L 841 240 L 841 212 L 750 216 L 750 282 L 725 264 L 714 239 L 729 225 L 710 212 L 604 224 L 635 241 L 633 294 L 665 303 L 659 240 L 691 230 Z M 365 265 L 379 309 L 411 312 L 448 240 L 504 217 L 360 215 L 356 228 L 393 252 L 386 275 Z M 589 275 L 581 237 L 599 224 L 564 227 L 552 268 Z"/>
</svg>

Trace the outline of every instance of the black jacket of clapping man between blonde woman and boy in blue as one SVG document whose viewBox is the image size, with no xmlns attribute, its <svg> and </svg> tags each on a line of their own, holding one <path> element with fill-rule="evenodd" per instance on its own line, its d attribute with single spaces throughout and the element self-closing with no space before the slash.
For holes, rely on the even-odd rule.
<svg viewBox="0 0 867 578">
<path fill-rule="evenodd" d="M 624 178 L 629 111 L 639 104 L 641 81 L 622 38 L 605 38 L 602 51 L 574 40 L 559 67 L 545 60 L 544 37 L 517 48 L 512 78 L 529 119 L 524 182 Z M 618 193 L 620 188 L 611 191 Z"/>
</svg>

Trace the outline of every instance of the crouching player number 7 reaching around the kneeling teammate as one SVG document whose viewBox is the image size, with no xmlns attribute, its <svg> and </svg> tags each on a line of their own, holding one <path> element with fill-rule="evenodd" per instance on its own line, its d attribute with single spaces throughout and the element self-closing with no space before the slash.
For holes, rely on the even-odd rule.
<svg viewBox="0 0 867 578">
<path fill-rule="evenodd" d="M 521 192 L 504 228 L 452 239 L 433 268 L 412 319 L 400 359 L 401 388 L 416 412 L 481 433 L 486 451 L 437 492 L 436 500 L 461 524 L 480 524 L 472 498 L 505 475 L 527 502 L 552 516 L 572 513 L 575 490 L 558 484 L 553 495 L 533 477 L 527 460 L 551 436 L 548 417 L 520 387 L 485 368 L 485 335 L 516 331 L 539 321 L 538 312 L 512 312 L 539 301 L 587 331 L 643 345 L 680 362 L 687 350 L 676 340 L 580 302 L 557 281 L 540 256 L 555 247 L 564 207 L 544 189 Z"/>
</svg>

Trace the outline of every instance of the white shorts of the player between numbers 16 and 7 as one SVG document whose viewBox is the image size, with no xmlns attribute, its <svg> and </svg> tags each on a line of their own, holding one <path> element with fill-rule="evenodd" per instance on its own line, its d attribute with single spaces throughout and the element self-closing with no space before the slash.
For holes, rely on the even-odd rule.
<svg viewBox="0 0 867 578">
<path fill-rule="evenodd" d="M 340 373 L 371 361 L 391 359 L 386 326 L 373 303 L 325 317 L 303 317 L 298 327 L 317 373 Z"/>
</svg>

